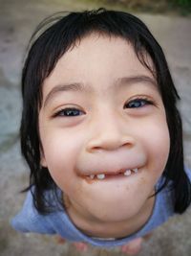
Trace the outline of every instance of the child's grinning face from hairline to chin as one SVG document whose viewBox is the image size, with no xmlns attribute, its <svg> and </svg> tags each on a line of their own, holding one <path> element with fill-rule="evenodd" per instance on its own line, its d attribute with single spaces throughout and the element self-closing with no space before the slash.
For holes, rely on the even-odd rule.
<svg viewBox="0 0 191 256">
<path fill-rule="evenodd" d="M 169 153 L 156 81 L 119 37 L 89 35 L 59 59 L 43 84 L 39 130 L 42 165 L 71 207 L 101 221 L 138 214 Z"/>
</svg>

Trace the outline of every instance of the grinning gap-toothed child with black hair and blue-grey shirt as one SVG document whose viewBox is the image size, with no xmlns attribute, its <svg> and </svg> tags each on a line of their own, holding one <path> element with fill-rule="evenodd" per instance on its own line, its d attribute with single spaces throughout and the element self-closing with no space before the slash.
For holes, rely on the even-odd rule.
<svg viewBox="0 0 191 256">
<path fill-rule="evenodd" d="M 31 179 L 11 224 L 133 255 L 191 201 L 162 50 L 137 17 L 103 9 L 46 20 L 34 37 L 20 129 Z"/>
</svg>

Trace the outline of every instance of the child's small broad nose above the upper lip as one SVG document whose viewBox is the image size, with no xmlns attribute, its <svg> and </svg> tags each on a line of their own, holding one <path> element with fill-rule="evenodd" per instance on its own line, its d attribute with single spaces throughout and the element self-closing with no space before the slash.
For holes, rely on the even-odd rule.
<svg viewBox="0 0 191 256">
<path fill-rule="evenodd" d="M 92 125 L 91 138 L 87 151 L 117 151 L 120 148 L 132 148 L 135 145 L 128 124 L 113 115 L 104 115 Z"/>
</svg>

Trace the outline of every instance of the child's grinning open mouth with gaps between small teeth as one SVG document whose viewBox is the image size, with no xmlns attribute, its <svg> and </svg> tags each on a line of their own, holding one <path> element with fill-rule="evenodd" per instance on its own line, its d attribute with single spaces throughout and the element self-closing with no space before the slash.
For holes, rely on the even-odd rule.
<svg viewBox="0 0 191 256">
<path fill-rule="evenodd" d="M 135 169 L 127 169 L 124 171 L 119 171 L 115 174 L 113 173 L 101 173 L 97 175 L 86 175 L 85 177 L 89 180 L 103 180 L 103 179 L 108 179 L 112 177 L 119 177 L 119 176 L 130 176 L 130 175 L 135 175 L 138 173 L 138 168 Z"/>
</svg>

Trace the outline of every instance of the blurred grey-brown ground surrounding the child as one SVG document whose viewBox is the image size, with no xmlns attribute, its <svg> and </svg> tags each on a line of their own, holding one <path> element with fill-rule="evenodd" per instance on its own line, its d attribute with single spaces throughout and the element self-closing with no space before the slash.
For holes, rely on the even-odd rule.
<svg viewBox="0 0 191 256">
<path fill-rule="evenodd" d="M 53 12 L 106 7 L 133 12 L 156 36 L 180 93 L 185 163 L 191 168 L 191 1 L 151 0 L 0 0 L 0 255 L 122 255 L 118 249 L 75 251 L 54 237 L 20 234 L 10 220 L 20 209 L 29 170 L 19 149 L 20 74 L 28 41 L 36 25 Z M 39 53 L 40 54 L 40 53 Z M 143 244 L 140 256 L 191 256 L 191 210 L 159 227 Z"/>
</svg>

